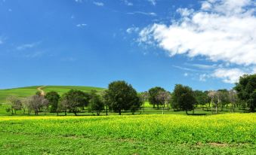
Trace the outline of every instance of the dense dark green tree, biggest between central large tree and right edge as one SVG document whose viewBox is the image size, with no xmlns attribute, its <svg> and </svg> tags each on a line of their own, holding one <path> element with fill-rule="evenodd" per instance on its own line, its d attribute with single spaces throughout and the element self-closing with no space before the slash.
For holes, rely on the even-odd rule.
<svg viewBox="0 0 256 155">
<path fill-rule="evenodd" d="M 186 114 L 188 114 L 187 111 L 193 110 L 194 104 L 196 104 L 193 90 L 181 84 L 176 84 L 172 98 L 181 110 L 186 111 Z"/>
</svg>

